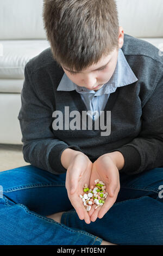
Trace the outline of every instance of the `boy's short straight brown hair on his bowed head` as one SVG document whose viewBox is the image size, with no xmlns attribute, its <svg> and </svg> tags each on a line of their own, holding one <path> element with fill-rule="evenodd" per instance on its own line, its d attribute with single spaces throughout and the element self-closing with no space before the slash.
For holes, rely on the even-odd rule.
<svg viewBox="0 0 163 256">
<path fill-rule="evenodd" d="M 43 22 L 55 61 L 77 72 L 118 49 L 115 0 L 43 0 Z"/>
</svg>

